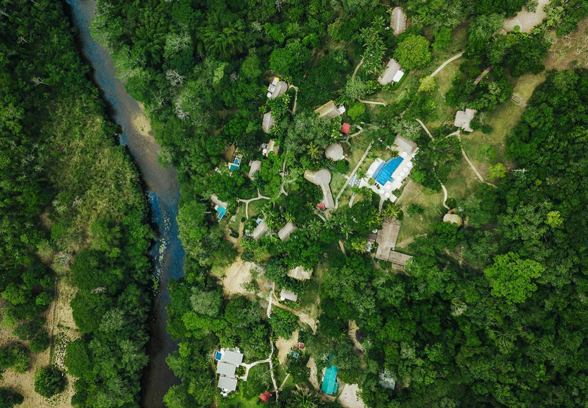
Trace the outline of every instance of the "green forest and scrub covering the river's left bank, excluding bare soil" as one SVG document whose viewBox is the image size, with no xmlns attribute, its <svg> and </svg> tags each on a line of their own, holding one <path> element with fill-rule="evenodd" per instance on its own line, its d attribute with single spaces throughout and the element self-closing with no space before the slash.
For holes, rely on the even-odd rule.
<svg viewBox="0 0 588 408">
<path fill-rule="evenodd" d="M 29 369 L 25 344 L 41 353 L 62 341 L 49 339 L 57 328 L 44 312 L 65 281 L 79 328 L 65 358 L 78 377 L 72 403 L 138 406 L 152 283 L 138 172 L 115 140 L 64 5 L 2 1 L 0 9 L 0 292 L 2 327 L 14 334 L 2 370 Z M 56 367 L 35 374 L 46 397 L 64 386 Z M 2 406 L 22 401 L 2 393 Z"/>
</svg>

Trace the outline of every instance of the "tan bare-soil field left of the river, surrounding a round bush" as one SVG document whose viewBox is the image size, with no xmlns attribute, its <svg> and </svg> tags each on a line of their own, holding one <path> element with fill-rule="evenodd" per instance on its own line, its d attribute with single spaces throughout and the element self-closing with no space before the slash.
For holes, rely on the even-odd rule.
<svg viewBox="0 0 588 408">
<path fill-rule="evenodd" d="M 59 407 L 71 408 L 71 397 L 74 395 L 74 382 L 68 376 L 67 385 L 64 392 L 46 400 L 34 390 L 34 376 L 38 369 L 48 364 L 55 364 L 64 369 L 65 347 L 71 340 L 79 337 L 78 329 L 74 323 L 71 307 L 69 303 L 76 294 L 76 289 L 67 283 L 65 278 L 56 281 L 55 299 L 47 311 L 47 323 L 45 325 L 53 343 L 49 349 L 41 354 L 31 354 L 31 369 L 26 373 L 15 373 L 12 370 L 6 370 L 0 380 L 0 386 L 12 387 L 21 393 L 25 400 L 19 405 L 19 408 L 39 408 L 39 407 Z M 16 338 L 6 329 L 0 331 L 2 343 L 14 341 Z"/>
</svg>

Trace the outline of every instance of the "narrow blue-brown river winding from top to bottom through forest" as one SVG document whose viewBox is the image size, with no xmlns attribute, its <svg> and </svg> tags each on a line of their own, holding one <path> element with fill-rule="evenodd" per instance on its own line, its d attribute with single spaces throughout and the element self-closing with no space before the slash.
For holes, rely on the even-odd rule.
<svg viewBox="0 0 588 408">
<path fill-rule="evenodd" d="M 169 303 L 169 279 L 183 274 L 184 251 L 179 240 L 179 184 L 175 168 L 163 168 L 158 162 L 159 144 L 149 131 L 141 105 L 115 78 L 111 55 L 96 44 L 90 34 L 90 23 L 96 9 L 94 0 L 66 0 L 72 23 L 78 28 L 77 42 L 86 64 L 92 68 L 94 84 L 108 107 L 109 117 L 121 127 L 119 140 L 131 153 L 149 197 L 151 220 L 156 241 L 151 248 L 153 274 L 159 286 L 153 300 L 150 320 L 149 364 L 143 372 L 141 407 L 163 408 L 163 395 L 177 379 L 165 363 L 165 357 L 178 348 L 166 331 L 166 304 Z"/>
</svg>

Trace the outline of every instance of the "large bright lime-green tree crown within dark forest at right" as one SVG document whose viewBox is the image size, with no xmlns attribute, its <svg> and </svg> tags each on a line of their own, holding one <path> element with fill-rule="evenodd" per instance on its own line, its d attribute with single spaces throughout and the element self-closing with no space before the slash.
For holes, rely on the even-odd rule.
<svg viewBox="0 0 588 408">
<path fill-rule="evenodd" d="M 494 258 L 492 266 L 484 270 L 494 296 L 504 297 L 509 303 L 522 303 L 537 290 L 534 283 L 545 268 L 531 259 L 521 259 L 509 252 Z"/>
</svg>

